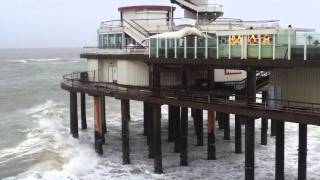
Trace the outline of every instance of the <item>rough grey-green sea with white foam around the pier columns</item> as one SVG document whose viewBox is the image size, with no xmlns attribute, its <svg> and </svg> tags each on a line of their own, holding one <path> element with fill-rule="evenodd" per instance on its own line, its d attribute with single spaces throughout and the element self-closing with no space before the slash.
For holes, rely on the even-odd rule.
<svg viewBox="0 0 320 180">
<path fill-rule="evenodd" d="M 60 88 L 60 82 L 64 74 L 87 69 L 86 60 L 79 58 L 80 53 L 81 49 L 0 50 L 0 179 L 244 179 L 244 154 L 233 152 L 234 141 L 224 141 L 223 131 L 217 130 L 217 160 L 207 161 L 206 145 L 195 146 L 191 118 L 190 165 L 179 166 L 179 154 L 173 153 L 173 144 L 167 142 L 166 106 L 162 108 L 165 171 L 162 175 L 153 174 L 153 160 L 148 159 L 146 138 L 142 135 L 141 102 L 131 102 L 131 165 L 122 165 L 120 104 L 113 98 L 106 99 L 108 135 L 104 155 L 96 155 L 93 148 L 91 97 L 87 97 L 89 128 L 79 130 L 79 139 L 73 139 L 69 133 L 69 94 Z M 320 128 L 309 126 L 308 130 L 308 179 L 318 180 Z M 271 180 L 274 179 L 275 139 L 269 137 L 268 146 L 261 146 L 259 133 L 258 120 L 256 178 Z M 231 137 L 234 139 L 233 131 Z M 286 179 L 296 179 L 296 124 L 286 123 L 285 141 Z"/>
</svg>

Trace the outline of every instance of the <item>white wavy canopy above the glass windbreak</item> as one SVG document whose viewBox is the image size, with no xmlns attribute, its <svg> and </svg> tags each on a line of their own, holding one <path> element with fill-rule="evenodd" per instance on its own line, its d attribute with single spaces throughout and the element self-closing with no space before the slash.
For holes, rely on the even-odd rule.
<svg viewBox="0 0 320 180">
<path fill-rule="evenodd" d="M 186 36 L 198 36 L 198 37 L 207 37 L 206 34 L 204 34 L 203 32 L 199 31 L 197 28 L 195 27 L 185 27 L 183 29 L 181 29 L 180 31 L 175 31 L 175 32 L 165 32 L 162 34 L 156 34 L 153 35 L 151 37 L 149 37 L 149 39 L 156 39 L 156 38 L 170 38 L 170 39 L 181 39 L 184 38 Z"/>
</svg>

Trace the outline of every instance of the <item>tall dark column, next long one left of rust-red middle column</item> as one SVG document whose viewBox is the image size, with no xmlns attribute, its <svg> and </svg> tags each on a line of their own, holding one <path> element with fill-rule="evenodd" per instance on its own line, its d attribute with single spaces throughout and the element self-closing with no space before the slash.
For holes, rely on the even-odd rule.
<svg viewBox="0 0 320 180">
<path fill-rule="evenodd" d="M 180 165 L 188 166 L 188 108 L 181 108 Z"/>
</svg>

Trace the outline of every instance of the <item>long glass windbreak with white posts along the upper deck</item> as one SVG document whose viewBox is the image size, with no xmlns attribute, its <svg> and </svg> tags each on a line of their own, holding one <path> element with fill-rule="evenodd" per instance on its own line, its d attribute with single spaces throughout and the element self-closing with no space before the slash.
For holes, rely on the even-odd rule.
<svg viewBox="0 0 320 180">
<path fill-rule="evenodd" d="M 188 59 L 320 59 L 320 34 L 186 36 L 181 39 L 151 39 L 150 56 Z M 217 46 L 217 43 L 218 46 Z M 218 54 L 217 54 L 218 53 Z"/>
</svg>

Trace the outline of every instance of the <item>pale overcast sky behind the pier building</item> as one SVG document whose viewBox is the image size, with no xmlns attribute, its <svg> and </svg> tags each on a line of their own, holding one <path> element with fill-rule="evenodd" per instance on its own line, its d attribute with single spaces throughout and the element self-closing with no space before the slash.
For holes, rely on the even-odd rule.
<svg viewBox="0 0 320 180">
<path fill-rule="evenodd" d="M 320 30 L 320 0 L 221 0 L 225 17 L 279 19 L 281 25 Z M 170 0 L 1 0 L 0 48 L 96 46 L 101 21 L 118 7 L 169 5 Z M 182 10 L 177 15 L 182 17 Z"/>
</svg>

